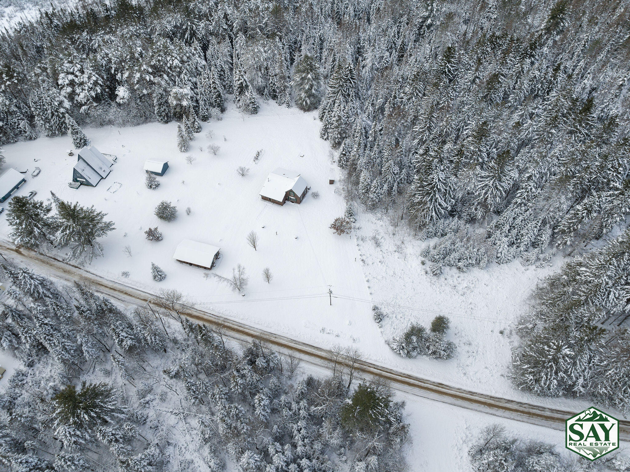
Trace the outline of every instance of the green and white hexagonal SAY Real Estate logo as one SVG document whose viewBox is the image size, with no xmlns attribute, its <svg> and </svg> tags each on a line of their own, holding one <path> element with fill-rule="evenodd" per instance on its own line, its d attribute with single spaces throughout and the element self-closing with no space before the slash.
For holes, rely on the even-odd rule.
<svg viewBox="0 0 630 472">
<path fill-rule="evenodd" d="M 588 408 L 566 420 L 566 449 L 594 461 L 619 449 L 619 420 Z"/>
</svg>

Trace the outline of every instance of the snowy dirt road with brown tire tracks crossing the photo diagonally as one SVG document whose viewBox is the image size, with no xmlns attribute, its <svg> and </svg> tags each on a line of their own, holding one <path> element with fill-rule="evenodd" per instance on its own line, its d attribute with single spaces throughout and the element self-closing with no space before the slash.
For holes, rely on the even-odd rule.
<svg viewBox="0 0 630 472">
<path fill-rule="evenodd" d="M 125 304 L 142 305 L 155 297 L 154 294 L 149 292 L 107 280 L 84 268 L 61 262 L 53 257 L 33 253 L 28 250 L 19 250 L 6 241 L 0 241 L 0 251 L 3 257 L 14 258 L 20 262 L 35 266 L 55 279 L 64 280 L 65 282 L 74 282 L 74 280 L 89 282 L 94 285 L 97 291 Z M 181 314 L 201 323 L 221 326 L 227 336 L 238 342 L 249 342 L 252 338 L 260 338 L 273 345 L 278 352 L 293 354 L 305 362 L 316 366 L 326 367 L 333 359 L 333 354 L 329 350 L 253 328 L 207 311 L 193 308 Z M 397 372 L 371 362 L 359 361 L 356 368 L 362 374 L 386 379 L 392 384 L 392 388 L 398 391 L 466 408 L 467 410 L 553 429 L 563 430 L 566 418 L 577 413 L 554 410 L 553 408 L 521 401 L 505 400 L 496 396 L 452 387 L 404 372 Z M 619 434 L 622 440 L 630 440 L 630 421 L 622 420 L 620 422 Z"/>
</svg>

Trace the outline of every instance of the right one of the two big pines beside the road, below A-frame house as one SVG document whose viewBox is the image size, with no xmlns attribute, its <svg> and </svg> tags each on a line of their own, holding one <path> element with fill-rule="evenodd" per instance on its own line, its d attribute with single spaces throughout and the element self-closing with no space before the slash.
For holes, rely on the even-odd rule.
<svg viewBox="0 0 630 472">
<path fill-rule="evenodd" d="M 64 202 L 54 193 L 50 193 L 57 209 L 54 245 L 70 247 L 68 260 L 78 260 L 83 256 L 91 263 L 94 257 L 102 256 L 103 246 L 96 238 L 102 238 L 115 229 L 112 221 L 105 221 L 107 214 L 93 207 Z M 84 253 L 87 254 L 84 256 Z"/>
</svg>

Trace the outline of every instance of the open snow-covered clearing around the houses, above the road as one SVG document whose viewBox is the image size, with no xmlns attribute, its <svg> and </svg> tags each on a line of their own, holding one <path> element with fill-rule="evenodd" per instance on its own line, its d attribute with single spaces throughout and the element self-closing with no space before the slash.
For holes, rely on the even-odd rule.
<svg viewBox="0 0 630 472">
<path fill-rule="evenodd" d="M 208 129 L 214 130 L 212 139 L 205 137 Z M 468 273 L 447 269 L 433 277 L 421 265 L 425 242 L 413 239 L 402 225 L 396 229 L 386 217 L 366 212 L 358 214 L 356 235 L 336 236 L 329 224 L 343 215 L 345 202 L 328 142 L 319 139 L 316 113 L 272 103 L 263 103 L 254 116 L 231 108 L 221 121 L 203 124 L 188 153 L 176 147 L 175 122 L 85 132 L 101 152 L 118 156 L 112 173 L 95 188 L 67 186 L 76 163 L 76 155 L 64 152 L 72 147 L 68 136 L 11 144 L 4 155 L 6 167 L 29 169 L 17 194 L 37 190 L 36 198 L 47 199 L 52 190 L 62 199 L 95 205 L 115 222 L 117 229 L 101 240 L 105 257 L 89 270 L 151 292 L 178 289 L 199 308 L 323 347 L 352 345 L 370 360 L 424 377 L 559 405 L 514 391 L 505 378 L 511 323 L 525 309 L 536 281 L 552 269 L 526 270 L 515 262 Z M 217 156 L 205 151 L 210 142 L 221 146 Z M 255 161 L 259 149 L 263 153 Z M 197 159 L 188 164 L 188 155 Z M 144 186 L 147 158 L 169 161 L 157 190 Z M 42 173 L 32 178 L 35 166 Z M 239 176 L 238 166 L 250 168 L 249 175 Z M 281 207 L 260 199 L 266 175 L 278 166 L 301 173 L 311 187 L 301 205 Z M 336 179 L 334 185 L 329 185 L 330 178 Z M 315 191 L 319 199 L 312 197 Z M 175 221 L 154 216 L 161 200 L 178 207 Z M 190 216 L 186 207 L 192 210 Z M 163 232 L 163 241 L 146 241 L 144 231 L 154 226 Z M 6 238 L 8 231 L 0 216 L 0 234 Z M 260 238 L 256 251 L 246 241 L 250 231 Z M 175 262 L 172 255 L 182 239 L 221 247 L 222 258 L 210 273 L 229 276 L 232 267 L 243 264 L 250 276 L 246 296 L 232 293 L 212 275 L 204 277 L 209 271 Z M 130 246 L 131 257 L 123 253 L 125 246 Z M 166 280 L 151 279 L 151 262 L 163 268 Z M 265 267 L 273 273 L 271 284 L 261 275 Z M 120 275 L 125 270 L 129 279 Z M 388 314 L 383 333 L 372 319 L 372 302 L 388 304 L 383 306 Z M 455 359 L 401 359 L 389 349 L 386 339 L 402 333 L 412 321 L 428 326 L 434 312 L 449 314 L 450 337 L 458 349 Z M 576 410 L 583 406 L 562 403 Z"/>
</svg>

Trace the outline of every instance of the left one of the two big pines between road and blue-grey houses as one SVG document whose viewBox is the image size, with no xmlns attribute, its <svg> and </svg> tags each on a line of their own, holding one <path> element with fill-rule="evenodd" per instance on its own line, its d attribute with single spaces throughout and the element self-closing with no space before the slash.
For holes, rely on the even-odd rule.
<svg viewBox="0 0 630 472">
<path fill-rule="evenodd" d="M 9 200 L 6 221 L 11 226 L 11 241 L 17 246 L 38 249 L 42 243 L 52 244 L 55 221 L 49 216 L 52 204 L 16 195 Z"/>
</svg>

